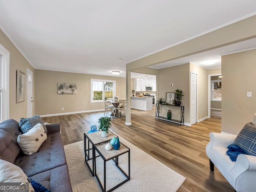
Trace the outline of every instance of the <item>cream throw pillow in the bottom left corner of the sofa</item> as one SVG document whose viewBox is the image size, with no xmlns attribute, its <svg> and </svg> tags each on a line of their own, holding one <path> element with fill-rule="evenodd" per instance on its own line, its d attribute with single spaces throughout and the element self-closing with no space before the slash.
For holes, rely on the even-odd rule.
<svg viewBox="0 0 256 192">
<path fill-rule="evenodd" d="M 20 182 L 20 183 L 28 183 L 28 189 L 29 192 L 34 191 L 34 188 L 32 187 L 31 183 L 28 182 L 28 177 L 26 174 L 22 171 L 21 168 L 18 166 L 0 159 L 0 183 L 2 182 Z M 27 184 L 21 184 L 24 185 L 25 188 Z"/>
</svg>

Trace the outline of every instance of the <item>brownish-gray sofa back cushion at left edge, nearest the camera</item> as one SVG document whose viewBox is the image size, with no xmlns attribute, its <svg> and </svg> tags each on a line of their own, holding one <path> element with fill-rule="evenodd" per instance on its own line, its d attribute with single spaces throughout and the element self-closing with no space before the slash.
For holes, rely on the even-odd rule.
<svg viewBox="0 0 256 192">
<path fill-rule="evenodd" d="M 17 140 L 8 132 L 0 129 L 0 159 L 14 163 L 19 153 Z"/>
</svg>

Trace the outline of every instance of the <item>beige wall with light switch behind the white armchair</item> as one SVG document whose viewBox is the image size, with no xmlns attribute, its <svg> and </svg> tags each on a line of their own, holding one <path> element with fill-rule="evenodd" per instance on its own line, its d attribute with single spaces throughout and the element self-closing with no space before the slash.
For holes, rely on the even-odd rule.
<svg viewBox="0 0 256 192">
<path fill-rule="evenodd" d="M 256 49 L 222 56 L 222 132 L 238 134 L 256 113 L 255 72 Z"/>
</svg>

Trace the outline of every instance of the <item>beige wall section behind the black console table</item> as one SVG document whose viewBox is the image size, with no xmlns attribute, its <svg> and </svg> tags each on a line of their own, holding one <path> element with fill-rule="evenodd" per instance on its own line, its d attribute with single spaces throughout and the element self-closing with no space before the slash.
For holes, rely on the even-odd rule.
<svg viewBox="0 0 256 192">
<path fill-rule="evenodd" d="M 158 70 L 157 76 L 157 90 L 158 90 L 158 98 L 162 97 L 164 100 L 166 99 L 166 92 L 175 92 L 176 89 L 182 90 L 184 96 L 182 96 L 181 105 L 184 106 L 184 122 L 190 123 L 189 117 L 189 98 L 190 98 L 190 90 L 189 90 L 189 63 L 168 67 L 164 69 Z M 170 87 L 170 84 L 174 84 L 173 87 Z M 162 106 L 164 109 L 162 111 L 166 111 L 170 109 L 172 110 L 172 118 L 180 120 L 180 108 L 179 107 L 170 107 Z M 165 113 L 164 113 L 165 114 Z M 164 115 L 163 114 L 163 115 Z"/>
</svg>

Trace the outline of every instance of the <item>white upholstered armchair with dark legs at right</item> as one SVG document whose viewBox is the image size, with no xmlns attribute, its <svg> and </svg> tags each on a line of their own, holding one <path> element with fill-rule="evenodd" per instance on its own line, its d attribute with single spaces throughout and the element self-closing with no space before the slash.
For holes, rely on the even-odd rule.
<svg viewBox="0 0 256 192">
<path fill-rule="evenodd" d="M 252 123 L 256 125 L 256 114 Z M 256 192 L 256 156 L 240 154 L 236 162 L 232 162 L 226 151 L 236 135 L 210 132 L 209 136 L 206 154 L 210 160 L 210 170 L 214 171 L 215 165 L 237 192 Z"/>
</svg>

